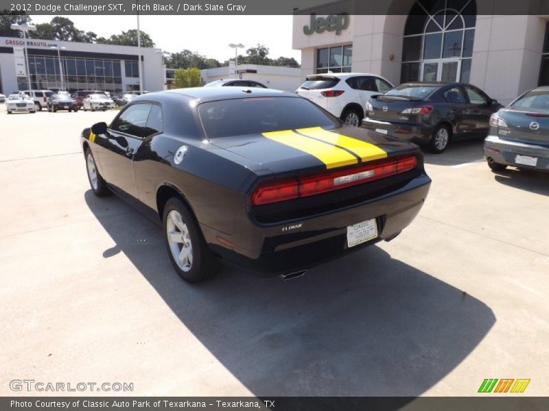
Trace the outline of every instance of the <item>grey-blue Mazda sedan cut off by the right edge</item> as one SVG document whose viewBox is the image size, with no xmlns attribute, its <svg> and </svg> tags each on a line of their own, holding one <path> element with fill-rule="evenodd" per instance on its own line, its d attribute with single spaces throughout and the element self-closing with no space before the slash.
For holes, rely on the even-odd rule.
<svg viewBox="0 0 549 411">
<path fill-rule="evenodd" d="M 549 170 L 549 87 L 525 92 L 492 114 L 484 156 L 493 171 Z"/>
</svg>

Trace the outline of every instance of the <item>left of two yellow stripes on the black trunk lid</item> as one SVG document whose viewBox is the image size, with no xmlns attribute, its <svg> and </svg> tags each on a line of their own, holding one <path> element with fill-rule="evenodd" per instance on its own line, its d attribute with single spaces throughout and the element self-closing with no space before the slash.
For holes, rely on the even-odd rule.
<svg viewBox="0 0 549 411">
<path fill-rule="evenodd" d="M 292 130 L 283 130 L 281 132 L 269 132 L 263 133 L 266 138 L 270 140 L 280 142 L 283 145 L 293 147 L 300 151 L 304 151 L 307 154 L 313 155 L 321 162 L 326 164 L 327 169 L 334 169 L 336 167 L 349 166 L 350 164 L 357 164 L 357 158 L 334 145 L 326 144 L 312 138 L 301 136 Z"/>
</svg>

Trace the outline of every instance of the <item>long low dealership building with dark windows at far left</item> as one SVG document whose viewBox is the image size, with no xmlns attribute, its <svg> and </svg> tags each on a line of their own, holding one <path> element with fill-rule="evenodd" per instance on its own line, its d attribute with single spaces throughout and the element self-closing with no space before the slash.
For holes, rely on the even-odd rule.
<svg viewBox="0 0 549 411">
<path fill-rule="evenodd" d="M 0 37 L 0 92 L 27 90 L 25 55 L 33 90 L 139 90 L 137 47 Z M 163 90 L 160 49 L 141 47 L 143 90 Z"/>
</svg>

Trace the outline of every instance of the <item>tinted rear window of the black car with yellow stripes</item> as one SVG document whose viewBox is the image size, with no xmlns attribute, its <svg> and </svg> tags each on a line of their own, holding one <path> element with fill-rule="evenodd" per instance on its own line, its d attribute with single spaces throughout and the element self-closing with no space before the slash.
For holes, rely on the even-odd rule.
<svg viewBox="0 0 549 411">
<path fill-rule="evenodd" d="M 211 101 L 200 104 L 198 114 L 209 138 L 336 126 L 314 103 L 295 97 Z"/>
</svg>

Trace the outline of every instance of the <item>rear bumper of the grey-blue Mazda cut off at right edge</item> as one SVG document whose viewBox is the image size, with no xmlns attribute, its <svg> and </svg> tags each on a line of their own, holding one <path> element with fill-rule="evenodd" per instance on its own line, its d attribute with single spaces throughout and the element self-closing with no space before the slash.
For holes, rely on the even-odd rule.
<svg viewBox="0 0 549 411">
<path fill-rule="evenodd" d="M 517 164 L 517 155 L 528 155 L 537 158 L 535 166 Z M 484 156 L 493 158 L 498 164 L 519 166 L 525 169 L 540 169 L 549 171 L 549 147 L 504 140 L 498 136 L 488 136 L 484 140 Z"/>
</svg>

